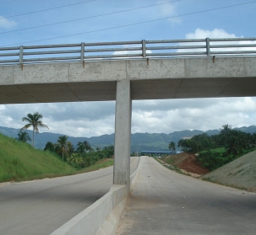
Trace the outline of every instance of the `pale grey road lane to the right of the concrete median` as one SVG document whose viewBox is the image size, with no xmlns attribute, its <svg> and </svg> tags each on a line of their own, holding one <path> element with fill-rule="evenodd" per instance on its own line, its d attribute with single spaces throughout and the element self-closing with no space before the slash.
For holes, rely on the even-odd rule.
<svg viewBox="0 0 256 235">
<path fill-rule="evenodd" d="M 177 174 L 141 157 L 118 235 L 256 234 L 256 194 Z"/>
</svg>

